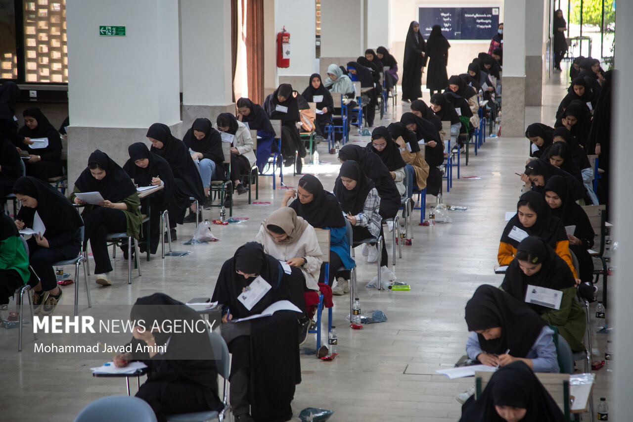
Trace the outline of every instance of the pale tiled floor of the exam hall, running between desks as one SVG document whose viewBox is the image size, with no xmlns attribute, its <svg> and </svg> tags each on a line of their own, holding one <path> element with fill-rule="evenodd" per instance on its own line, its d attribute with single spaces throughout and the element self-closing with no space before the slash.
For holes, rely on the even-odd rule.
<svg viewBox="0 0 633 422">
<path fill-rule="evenodd" d="M 526 123 L 542 121 L 553 125 L 553 115 L 566 86 L 564 81 L 544 86 L 545 105 L 528 108 Z M 427 97 L 428 92 L 424 98 L 428 103 Z M 382 122 L 377 118 L 376 124 L 388 125 L 399 120 L 406 111 L 408 105 L 399 103 L 394 116 L 390 102 L 389 113 Z M 354 128 L 352 132 L 356 133 Z M 351 138 L 363 146 L 370 139 L 367 136 Z M 450 368 L 465 354 L 468 331 L 463 309 L 475 288 L 483 283 L 499 285 L 503 281 L 503 276 L 495 275 L 492 269 L 496 264 L 499 236 L 506 224 L 505 212 L 515 209 L 519 196 L 520 179 L 514 173 L 523 168 L 527 150 L 525 138 L 488 138 L 479 155 L 471 156 L 468 167 L 463 165 L 462 157 L 461 176 L 480 179 L 462 177 L 458 180 L 455 171 L 453 188 L 450 192 L 444 191 L 444 203 L 468 207 L 468 210 L 451 211 L 451 223 L 434 227 L 418 226 L 420 212 L 415 211 L 413 245 L 403 246 L 403 257 L 396 259 L 394 269 L 399 281 L 411 285 L 410 291 L 365 288 L 375 275 L 376 266 L 363 259 L 360 248 L 356 250 L 361 308 L 363 312 L 380 309 L 389 321 L 353 330 L 345 319 L 349 312 L 349 295 L 334 297 L 332 324 L 337 326 L 339 356 L 333 362 L 320 361 L 313 355 L 301 356 L 303 380 L 292 402 L 294 420 L 298 420 L 296 416 L 305 407 L 333 410 L 329 419 L 332 422 L 430 422 L 460 418 L 461 406 L 454 396 L 467 390 L 473 378 L 449 380 L 437 374 L 436 369 Z M 304 171 L 318 174 L 325 188 L 332 189 L 339 163 L 334 155 L 327 153 L 327 144 L 321 143 L 318 151 L 323 165 L 305 166 Z M 290 168 L 285 170 L 285 184 L 296 186 L 300 176 L 293 177 Z M 153 255 L 149 262 L 143 258 L 143 275 L 139 278 L 132 272 L 132 285 L 127 284 L 127 261 L 118 251 L 113 260 L 112 286 L 100 287 L 94 283 L 94 275 L 89 278 L 91 309 L 87 307 L 81 281 L 80 315 L 97 320 L 127 319 L 138 297 L 156 291 L 183 302 L 194 297 L 211 297 L 222 263 L 232 257 L 238 246 L 253 240 L 261 221 L 279 207 L 284 193 L 284 189 L 272 190 L 270 177 L 261 177 L 259 201 L 270 202 L 270 205 L 248 205 L 246 195 L 235 195 L 234 216 L 248 217 L 248 221 L 229 226 L 213 225 L 213 234 L 220 241 L 209 245 L 182 245 L 181 241 L 191 238 L 195 224 L 179 226 L 178 241 L 172 248 L 192 252 L 164 260 L 160 255 Z M 427 198 L 427 213 L 430 205 L 435 205 L 434 196 Z M 205 210 L 204 217 L 218 218 L 219 209 Z M 389 234 L 387 248 L 392 268 Z M 91 267 L 94 268 L 93 262 Z M 74 269 L 66 267 L 66 272 L 74 274 Z M 55 315 L 72 316 L 74 286 L 62 288 L 64 297 Z M 11 301 L 11 307 L 13 303 Z M 327 329 L 325 320 L 323 324 Z M 41 334 L 37 343 L 123 344 L 130 337 L 129 334 Z M 91 375 L 89 368 L 103 364 L 110 355 L 84 361 L 72 355 L 36 354 L 28 326 L 23 351 L 18 353 L 17 338 L 16 329 L 0 329 L 0 374 L 4 381 L 0 393 L 0 421 L 72 421 L 92 400 L 126 393 L 123 380 Z M 604 353 L 604 336 L 599 339 L 599 350 Z M 324 330 L 322 342 L 326 341 Z M 315 335 L 310 336 L 304 347 L 316 347 Z M 578 364 L 582 368 L 581 362 Z M 596 406 L 599 397 L 610 398 L 608 374 L 601 369 L 597 375 Z M 135 381 L 131 384 L 134 394 Z"/>
</svg>

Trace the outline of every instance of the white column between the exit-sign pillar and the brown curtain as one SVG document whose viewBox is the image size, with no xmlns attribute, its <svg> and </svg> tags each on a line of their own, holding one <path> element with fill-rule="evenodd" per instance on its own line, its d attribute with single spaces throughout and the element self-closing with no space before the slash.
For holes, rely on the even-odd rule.
<svg viewBox="0 0 633 422">
<path fill-rule="evenodd" d="M 230 0 L 181 0 L 182 125 L 235 112 Z"/>
</svg>

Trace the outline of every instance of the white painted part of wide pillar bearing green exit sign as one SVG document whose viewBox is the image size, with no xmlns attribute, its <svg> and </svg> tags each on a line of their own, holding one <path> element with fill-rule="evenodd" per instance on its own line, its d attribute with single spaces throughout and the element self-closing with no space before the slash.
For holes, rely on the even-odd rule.
<svg viewBox="0 0 633 422">
<path fill-rule="evenodd" d="M 180 121 L 177 0 L 68 0 L 68 112 L 73 125 Z M 122 25 L 125 37 L 101 37 Z"/>
</svg>

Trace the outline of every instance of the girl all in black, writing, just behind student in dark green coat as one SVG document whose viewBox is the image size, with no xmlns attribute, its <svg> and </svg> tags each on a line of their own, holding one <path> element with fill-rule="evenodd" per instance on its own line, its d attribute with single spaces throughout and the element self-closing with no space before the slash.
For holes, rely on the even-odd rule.
<svg viewBox="0 0 633 422">
<path fill-rule="evenodd" d="M 149 206 L 153 210 L 149 219 L 149 233 L 151 233 L 151 245 L 142 245 L 140 252 L 145 252 L 149 247 L 150 253 L 156 253 L 160 240 L 160 217 L 161 213 L 168 208 L 172 198 L 175 182 L 173 181 L 172 168 L 163 157 L 152 153 L 147 145 L 142 142 L 134 143 L 127 147 L 130 159 L 123 165 L 123 171 L 134 181 L 137 186 L 160 186 L 163 189 L 154 193 L 149 198 Z M 141 203 L 141 212 L 147 214 L 146 202 Z M 147 241 L 147 231 L 142 230 L 141 241 Z M 172 239 L 173 240 L 173 239 Z M 127 257 L 127 245 L 121 246 L 123 256 Z"/>
</svg>

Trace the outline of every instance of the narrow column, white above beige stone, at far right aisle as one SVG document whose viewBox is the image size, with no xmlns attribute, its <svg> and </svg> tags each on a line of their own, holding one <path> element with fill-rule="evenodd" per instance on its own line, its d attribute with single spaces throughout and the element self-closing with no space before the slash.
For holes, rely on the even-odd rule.
<svg viewBox="0 0 633 422">
<path fill-rule="evenodd" d="M 525 3 L 506 0 L 503 22 L 503 137 L 525 136 Z"/>
</svg>

